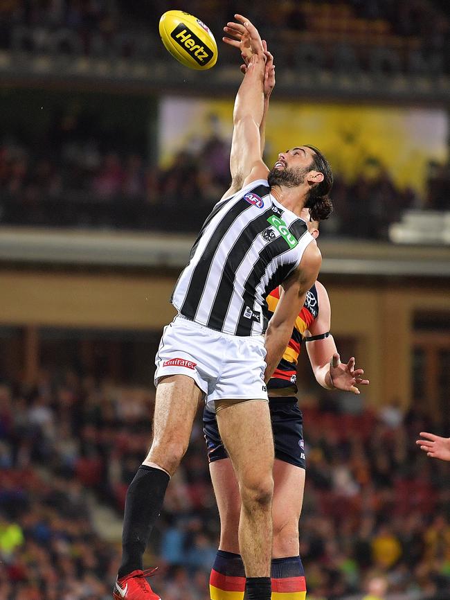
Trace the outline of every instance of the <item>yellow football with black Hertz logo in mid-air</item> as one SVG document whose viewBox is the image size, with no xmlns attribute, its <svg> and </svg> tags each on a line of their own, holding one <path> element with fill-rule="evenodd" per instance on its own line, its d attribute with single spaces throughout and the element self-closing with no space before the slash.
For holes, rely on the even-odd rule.
<svg viewBox="0 0 450 600">
<path fill-rule="evenodd" d="M 183 10 L 168 10 L 159 19 L 163 44 L 185 67 L 204 71 L 217 61 L 217 44 L 210 29 L 200 19 Z"/>
</svg>

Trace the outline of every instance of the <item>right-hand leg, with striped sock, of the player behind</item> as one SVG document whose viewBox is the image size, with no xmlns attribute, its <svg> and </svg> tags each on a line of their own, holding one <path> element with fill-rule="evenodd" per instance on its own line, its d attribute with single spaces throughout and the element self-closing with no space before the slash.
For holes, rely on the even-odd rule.
<svg viewBox="0 0 450 600">
<path fill-rule="evenodd" d="M 272 592 L 276 592 L 278 600 L 283 597 L 304 600 L 306 581 L 299 556 L 298 520 L 303 504 L 305 469 L 276 459 L 273 482 Z"/>
</svg>

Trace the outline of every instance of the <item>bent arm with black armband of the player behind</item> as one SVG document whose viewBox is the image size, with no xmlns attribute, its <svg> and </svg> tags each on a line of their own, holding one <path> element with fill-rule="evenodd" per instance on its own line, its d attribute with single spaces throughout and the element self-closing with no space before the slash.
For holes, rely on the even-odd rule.
<svg viewBox="0 0 450 600">
<path fill-rule="evenodd" d="M 339 353 L 330 334 L 331 305 L 327 290 L 316 281 L 318 316 L 309 327 L 309 337 L 305 336 L 306 349 L 316 381 L 325 389 L 342 389 L 360 394 L 357 385 L 368 385 L 361 379 L 363 369 L 354 369 L 354 357 L 342 364 Z"/>
</svg>

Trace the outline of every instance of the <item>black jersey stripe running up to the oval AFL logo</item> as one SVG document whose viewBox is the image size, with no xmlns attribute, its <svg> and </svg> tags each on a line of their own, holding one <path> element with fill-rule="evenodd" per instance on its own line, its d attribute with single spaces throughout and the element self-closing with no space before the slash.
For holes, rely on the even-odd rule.
<svg viewBox="0 0 450 600">
<path fill-rule="evenodd" d="M 255 193 L 260 196 L 267 195 L 268 191 L 269 186 L 264 185 L 249 189 L 249 193 Z M 220 242 L 222 242 L 228 230 L 233 226 L 235 220 L 242 213 L 244 213 L 244 211 L 247 211 L 251 208 L 253 208 L 253 205 L 249 204 L 249 202 L 246 202 L 245 200 L 243 200 L 243 202 L 236 202 L 236 204 L 227 213 L 225 213 L 222 221 L 217 224 L 217 228 L 215 229 L 213 236 L 211 236 L 208 246 L 201 255 L 199 263 L 192 273 L 192 277 L 188 286 L 188 292 L 180 309 L 181 315 L 185 315 L 190 319 L 195 319 L 197 308 L 199 306 L 201 297 L 203 296 L 206 280 L 208 279 L 208 273 Z M 222 329 L 222 323 L 219 325 L 218 329 Z"/>
</svg>

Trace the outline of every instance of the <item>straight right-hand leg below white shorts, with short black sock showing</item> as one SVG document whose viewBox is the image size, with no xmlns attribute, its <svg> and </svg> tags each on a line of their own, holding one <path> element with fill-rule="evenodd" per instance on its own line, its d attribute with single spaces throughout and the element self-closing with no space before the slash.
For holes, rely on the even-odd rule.
<svg viewBox="0 0 450 600">
<path fill-rule="evenodd" d="M 217 425 L 237 477 L 242 501 L 239 545 L 249 600 L 270 597 L 273 436 L 269 405 L 252 400 L 217 411 Z M 255 459 L 256 458 L 256 459 Z"/>
</svg>

